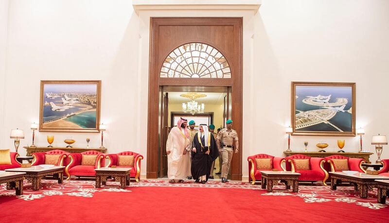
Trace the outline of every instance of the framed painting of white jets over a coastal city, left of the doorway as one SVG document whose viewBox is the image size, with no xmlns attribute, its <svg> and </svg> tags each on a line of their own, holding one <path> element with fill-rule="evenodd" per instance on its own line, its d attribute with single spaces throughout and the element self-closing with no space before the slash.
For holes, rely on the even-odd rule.
<svg viewBox="0 0 389 223">
<path fill-rule="evenodd" d="M 40 132 L 99 132 L 101 81 L 41 81 Z"/>
</svg>

